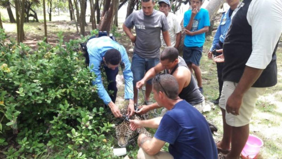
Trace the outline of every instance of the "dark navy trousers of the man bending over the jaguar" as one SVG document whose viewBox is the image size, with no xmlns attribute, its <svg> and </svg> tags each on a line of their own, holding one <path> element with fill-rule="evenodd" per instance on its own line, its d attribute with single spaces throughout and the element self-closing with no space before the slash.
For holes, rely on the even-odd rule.
<svg viewBox="0 0 282 159">
<path fill-rule="evenodd" d="M 112 101 L 115 103 L 116 102 L 116 94 L 118 92 L 118 88 L 116 87 L 116 75 L 118 75 L 118 67 L 116 67 L 114 70 L 110 69 L 107 66 L 104 66 L 106 76 L 107 76 L 107 81 L 109 83 L 108 85 L 108 90 L 114 91 L 113 94 L 109 94 L 110 98 Z"/>
</svg>

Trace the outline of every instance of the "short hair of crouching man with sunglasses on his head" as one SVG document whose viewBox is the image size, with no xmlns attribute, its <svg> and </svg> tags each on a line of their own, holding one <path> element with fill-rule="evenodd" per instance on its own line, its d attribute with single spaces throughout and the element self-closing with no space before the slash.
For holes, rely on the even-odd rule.
<svg viewBox="0 0 282 159">
<path fill-rule="evenodd" d="M 156 92 L 163 92 L 168 98 L 177 99 L 179 86 L 173 75 L 166 73 L 158 74 L 153 79 L 152 84 Z"/>
</svg>

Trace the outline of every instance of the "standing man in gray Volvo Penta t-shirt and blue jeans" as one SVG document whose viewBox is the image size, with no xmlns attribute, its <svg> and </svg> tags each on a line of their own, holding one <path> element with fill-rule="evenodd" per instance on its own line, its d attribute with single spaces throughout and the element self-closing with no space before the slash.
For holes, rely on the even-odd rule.
<svg viewBox="0 0 282 159">
<path fill-rule="evenodd" d="M 134 43 L 131 71 L 133 73 L 134 102 L 137 102 L 136 82 L 144 77 L 146 71 L 156 66 L 160 58 L 160 31 L 167 46 L 171 46 L 169 39 L 169 25 L 164 13 L 154 10 L 154 0 L 141 0 L 142 10 L 130 14 L 122 25 L 124 32 Z M 135 27 L 136 36 L 131 33 Z M 151 80 L 146 83 L 146 100 L 152 91 Z"/>
</svg>

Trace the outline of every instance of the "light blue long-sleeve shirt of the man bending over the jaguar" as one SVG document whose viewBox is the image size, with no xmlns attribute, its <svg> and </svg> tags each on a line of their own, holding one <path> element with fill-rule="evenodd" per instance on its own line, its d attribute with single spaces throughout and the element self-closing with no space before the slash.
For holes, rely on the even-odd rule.
<svg viewBox="0 0 282 159">
<path fill-rule="evenodd" d="M 90 39 L 87 44 L 87 51 L 89 53 L 89 67 L 93 65 L 91 72 L 94 72 L 97 76 L 92 84 L 97 86 L 98 95 L 103 100 L 105 104 L 109 104 L 112 100 L 105 90 L 102 79 L 100 66 L 103 62 L 103 57 L 105 52 L 109 49 L 117 49 L 122 57 L 122 62 L 125 65 L 123 70 L 125 87 L 124 87 L 124 99 L 133 99 L 133 74 L 131 72 L 131 63 L 128 59 L 125 48 L 119 43 L 113 41 L 108 36 L 102 36 L 100 38 Z"/>
</svg>

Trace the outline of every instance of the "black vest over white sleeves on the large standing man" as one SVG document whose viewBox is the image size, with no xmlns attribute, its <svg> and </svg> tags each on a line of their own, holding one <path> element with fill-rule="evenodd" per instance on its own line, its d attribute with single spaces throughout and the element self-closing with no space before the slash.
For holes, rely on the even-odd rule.
<svg viewBox="0 0 282 159">
<path fill-rule="evenodd" d="M 222 79 L 224 81 L 239 82 L 246 63 L 252 53 L 252 27 L 247 21 L 247 12 L 252 0 L 244 0 L 232 18 L 231 25 L 223 43 L 224 67 Z M 263 22 L 262 22 L 263 23 Z M 266 28 L 267 29 L 267 28 Z M 252 87 L 270 87 L 277 83 L 276 50 L 272 60 L 263 70 L 261 76 Z"/>
</svg>

